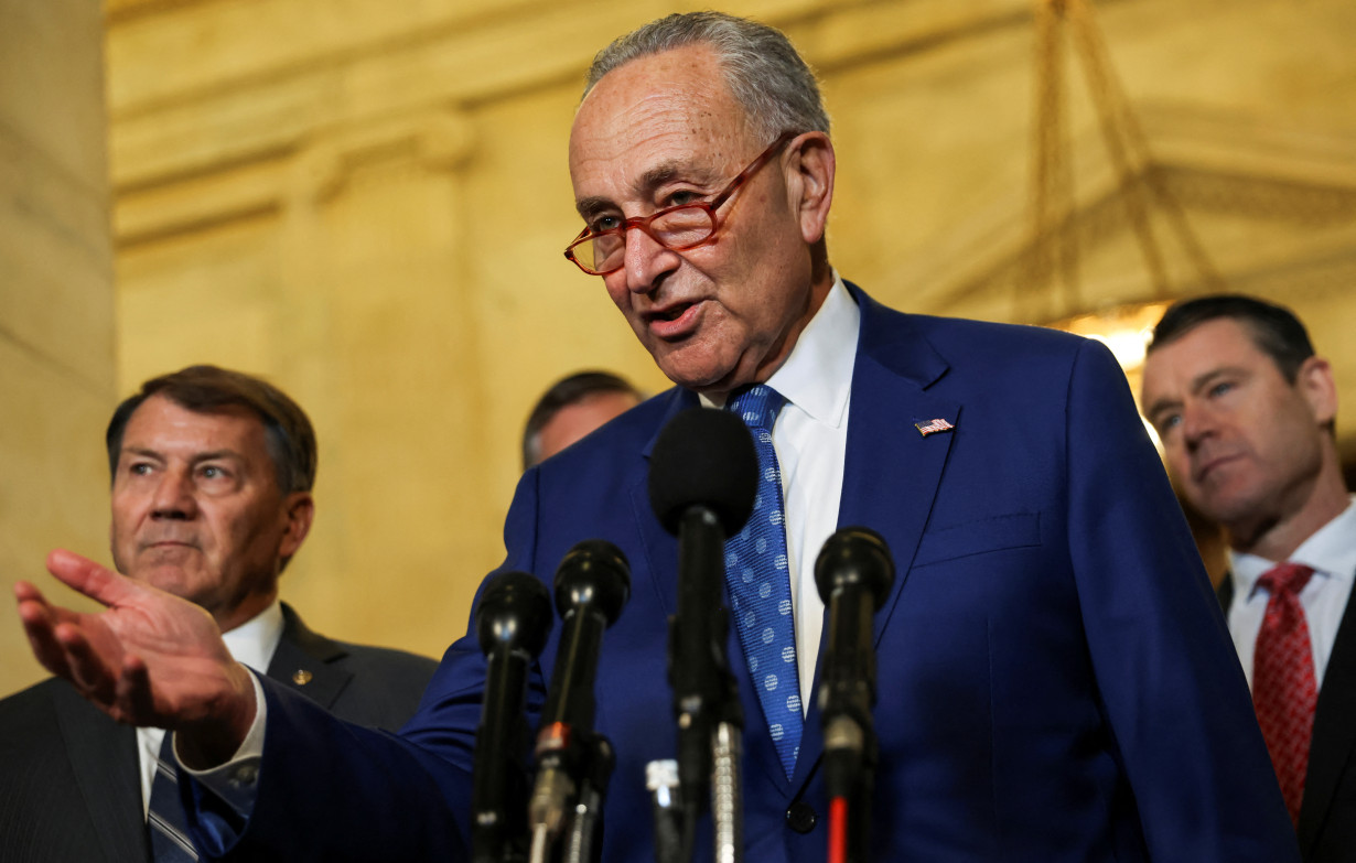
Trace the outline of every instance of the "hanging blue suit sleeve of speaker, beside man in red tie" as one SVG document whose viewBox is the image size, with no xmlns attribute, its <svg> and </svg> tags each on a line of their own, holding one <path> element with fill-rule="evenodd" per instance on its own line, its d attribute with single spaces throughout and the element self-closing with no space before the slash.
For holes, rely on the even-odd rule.
<svg viewBox="0 0 1356 863">
<path fill-rule="evenodd" d="M 1089 341 L 1070 378 L 1069 543 L 1100 698 L 1153 860 L 1298 860 L 1199 554 L 1125 378 Z"/>
</svg>

